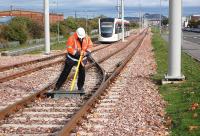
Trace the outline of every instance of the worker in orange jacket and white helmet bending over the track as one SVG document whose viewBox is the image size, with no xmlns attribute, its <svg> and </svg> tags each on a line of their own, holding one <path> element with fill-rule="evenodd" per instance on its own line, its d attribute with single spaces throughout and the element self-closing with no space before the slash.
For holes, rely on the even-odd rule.
<svg viewBox="0 0 200 136">
<path fill-rule="evenodd" d="M 87 57 L 91 54 L 92 41 L 89 36 L 86 35 L 85 30 L 80 27 L 76 32 L 68 38 L 66 42 L 67 56 L 65 60 L 65 66 L 56 82 L 54 90 L 59 90 L 63 83 L 66 81 L 73 66 L 76 66 L 81 55 L 83 55 L 82 62 L 78 72 L 78 90 L 84 91 L 83 85 L 85 82 L 85 65 L 87 63 Z"/>
</svg>

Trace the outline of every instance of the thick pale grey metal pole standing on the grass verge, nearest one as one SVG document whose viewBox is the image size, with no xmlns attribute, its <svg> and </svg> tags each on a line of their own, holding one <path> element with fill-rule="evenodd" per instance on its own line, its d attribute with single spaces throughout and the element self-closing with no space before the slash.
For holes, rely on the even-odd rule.
<svg viewBox="0 0 200 136">
<path fill-rule="evenodd" d="M 185 77 L 181 75 L 181 20 L 182 20 L 182 0 L 169 0 L 169 54 L 167 80 L 181 80 Z"/>
</svg>

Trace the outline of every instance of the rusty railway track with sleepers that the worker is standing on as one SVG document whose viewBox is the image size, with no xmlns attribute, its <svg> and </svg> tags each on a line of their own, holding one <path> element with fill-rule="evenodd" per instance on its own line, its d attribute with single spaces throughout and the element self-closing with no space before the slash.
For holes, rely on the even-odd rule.
<svg viewBox="0 0 200 136">
<path fill-rule="evenodd" d="M 136 50 L 139 48 L 139 46 L 136 46 L 136 45 L 140 45 L 143 38 L 144 38 L 144 34 L 141 34 L 140 36 L 138 36 L 137 38 L 138 43 L 136 43 L 135 46 L 133 47 L 131 46 L 132 47 L 131 50 L 130 50 L 130 46 L 127 46 L 129 47 L 129 51 L 136 52 Z M 130 43 L 131 42 L 127 43 L 126 45 Z M 120 56 L 120 54 L 124 55 L 125 52 L 128 51 L 127 48 L 124 47 L 124 49 L 126 51 L 123 50 L 124 51 L 123 53 L 119 51 L 121 50 L 120 48 L 119 50 L 115 51 L 115 53 L 113 52 L 111 53 L 112 55 L 106 56 L 105 58 L 109 60 L 109 58 L 111 58 L 111 56 L 113 56 L 114 54 L 117 56 Z M 81 97 L 78 100 L 77 99 L 55 100 L 55 99 L 50 99 L 50 98 L 40 98 L 40 99 L 35 100 L 36 97 L 41 96 L 41 94 L 43 94 L 45 91 L 51 88 L 52 85 L 54 84 L 52 83 L 51 85 L 48 85 L 47 87 L 43 88 L 41 91 L 38 91 L 38 94 L 34 93 L 33 97 L 29 96 L 26 98 L 26 100 L 21 101 L 21 104 L 20 102 L 18 102 L 17 105 L 15 106 L 12 105 L 11 109 L 7 107 L 7 111 L 4 109 L 4 112 L 0 112 L 1 119 L 3 119 L 6 115 L 10 114 L 14 110 L 18 110 L 18 109 L 20 110 L 17 112 L 17 114 L 13 114 L 9 118 L 6 118 L 5 120 L 1 121 L 0 132 L 3 135 L 12 135 L 12 134 L 57 135 L 57 132 L 61 128 L 63 128 L 64 125 L 70 119 L 72 120 L 76 119 L 76 122 L 74 123 L 72 121 L 68 122 L 68 124 L 70 124 L 70 122 L 72 123 L 72 125 L 70 126 L 75 126 L 76 123 L 85 114 L 83 112 L 79 114 L 81 109 L 83 111 L 84 110 L 87 111 L 93 105 L 92 102 L 98 101 L 97 98 L 100 97 L 99 95 L 101 95 L 102 93 L 104 94 L 103 90 L 109 85 L 109 82 L 113 80 L 113 78 L 120 72 L 121 68 L 123 68 L 123 66 L 126 64 L 128 59 L 131 58 L 131 56 L 132 55 L 130 54 L 129 55 L 125 54 L 124 57 L 120 56 L 121 59 L 117 59 L 116 61 L 113 61 L 113 63 L 110 63 L 109 61 L 106 62 L 105 61 L 106 59 L 103 62 L 103 58 L 98 60 L 99 62 L 104 63 L 104 64 L 102 63 L 102 65 L 106 65 L 107 63 L 107 65 L 109 66 L 106 72 L 107 73 L 109 72 L 109 74 L 112 73 L 112 75 L 109 77 L 109 79 L 106 80 L 106 82 L 102 82 L 105 79 L 105 73 L 103 74 L 103 71 L 102 70 L 100 71 L 101 66 L 95 65 L 97 66 L 96 68 L 90 66 L 91 68 L 88 69 L 88 76 L 86 76 L 86 81 L 88 82 L 85 85 L 85 87 L 87 88 L 87 95 L 84 97 Z M 114 58 L 117 58 L 117 57 L 113 56 L 112 59 Z M 126 59 L 124 60 L 124 58 Z M 92 78 L 92 77 L 96 77 L 96 78 Z M 68 85 L 69 85 L 69 82 L 65 84 L 66 87 Z M 99 90 L 102 90 L 102 91 L 99 91 Z M 88 100 L 88 98 L 90 99 Z M 32 100 L 34 100 L 34 102 L 27 105 L 27 102 L 28 101 L 30 102 Z M 82 105 L 83 103 L 86 103 L 86 105 L 88 104 L 89 106 L 88 109 L 83 108 L 85 107 L 85 105 Z M 26 105 L 26 108 L 21 109 L 24 105 Z M 81 106 L 82 108 L 80 109 Z M 78 109 L 80 109 L 79 112 L 77 112 Z M 75 118 L 77 114 L 80 115 L 79 119 Z M 60 134 L 62 133 L 66 134 L 66 130 L 68 133 L 71 132 L 73 128 L 69 129 L 67 126 L 69 125 L 66 125 L 64 128 L 67 128 L 67 129 L 63 129 Z"/>
</svg>

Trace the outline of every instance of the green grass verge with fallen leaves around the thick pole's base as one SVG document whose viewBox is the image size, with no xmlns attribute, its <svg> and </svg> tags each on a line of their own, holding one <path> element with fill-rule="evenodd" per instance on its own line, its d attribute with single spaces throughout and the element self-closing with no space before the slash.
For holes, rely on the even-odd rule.
<svg viewBox="0 0 200 136">
<path fill-rule="evenodd" d="M 167 73 L 167 43 L 153 30 L 152 45 L 158 65 L 153 80 L 160 81 Z M 200 136 L 200 63 L 182 53 L 181 84 L 159 85 L 160 94 L 167 102 L 166 113 L 172 123 L 172 136 Z"/>
</svg>

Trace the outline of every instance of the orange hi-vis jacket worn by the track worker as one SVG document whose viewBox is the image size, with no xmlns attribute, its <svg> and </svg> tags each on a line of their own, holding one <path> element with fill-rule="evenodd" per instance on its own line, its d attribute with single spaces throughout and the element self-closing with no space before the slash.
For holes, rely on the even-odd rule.
<svg viewBox="0 0 200 136">
<path fill-rule="evenodd" d="M 75 32 L 72 36 L 68 38 L 68 41 L 66 43 L 67 46 L 67 52 L 71 55 L 75 55 L 77 51 L 90 51 L 92 48 L 92 41 L 89 36 L 86 35 L 86 37 L 83 39 L 82 48 L 81 43 L 78 40 L 78 35 Z"/>
</svg>

